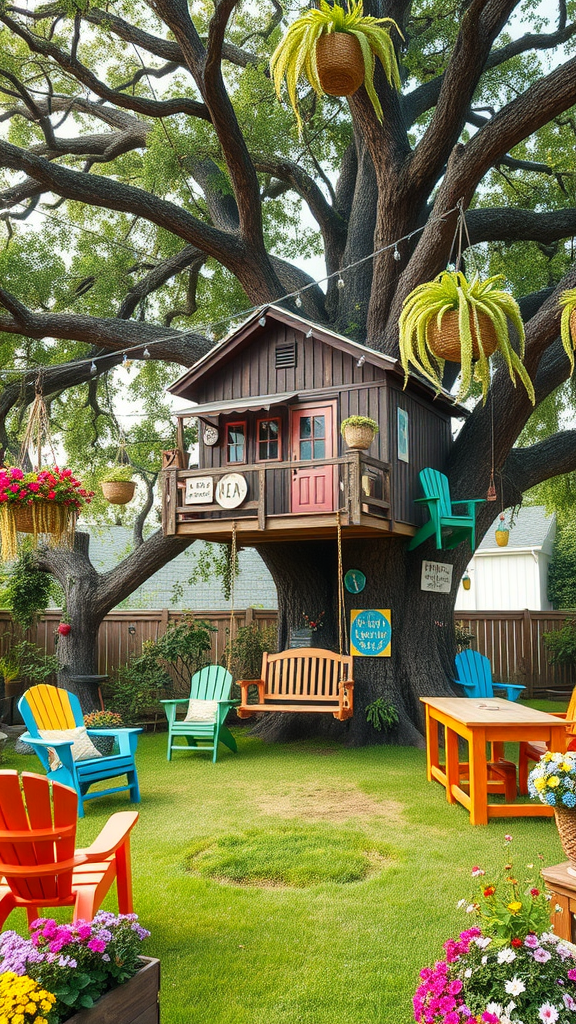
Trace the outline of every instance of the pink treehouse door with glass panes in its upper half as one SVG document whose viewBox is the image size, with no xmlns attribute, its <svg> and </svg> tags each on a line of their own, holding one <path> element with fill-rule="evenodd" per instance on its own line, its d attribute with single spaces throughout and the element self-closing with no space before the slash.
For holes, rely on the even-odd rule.
<svg viewBox="0 0 576 1024">
<path fill-rule="evenodd" d="M 334 467 L 321 465 L 332 458 L 333 429 L 332 406 L 292 410 L 292 459 L 311 463 L 292 471 L 292 512 L 334 510 Z"/>
</svg>

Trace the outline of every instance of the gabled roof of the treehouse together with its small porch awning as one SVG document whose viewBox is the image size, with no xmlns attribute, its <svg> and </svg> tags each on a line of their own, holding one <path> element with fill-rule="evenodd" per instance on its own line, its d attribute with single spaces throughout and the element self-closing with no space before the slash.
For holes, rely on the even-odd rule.
<svg viewBox="0 0 576 1024">
<path fill-rule="evenodd" d="M 260 324 L 260 321 L 265 317 L 265 324 Z M 272 323 L 271 323 L 272 322 Z M 300 316 L 296 313 L 292 313 L 280 306 L 270 305 L 263 306 L 255 312 L 251 313 L 247 319 L 244 321 L 240 327 L 235 328 L 225 338 L 217 342 L 202 358 L 198 359 L 190 370 L 187 370 L 170 387 L 168 390 L 171 394 L 178 395 L 182 398 L 190 398 L 194 401 L 197 398 L 202 397 L 202 386 L 204 381 L 212 376 L 214 373 L 218 373 L 220 369 L 233 358 L 235 358 L 243 349 L 250 345 L 253 345 L 258 341 L 259 338 L 264 337 L 264 335 L 270 337 L 271 327 L 274 324 L 283 325 L 285 327 L 292 328 L 295 331 L 301 332 L 306 337 L 312 337 L 323 344 L 329 345 L 332 348 L 340 349 L 352 355 L 354 358 L 362 359 L 365 362 L 372 364 L 383 370 L 384 373 L 393 374 L 395 377 L 404 377 L 404 371 L 398 359 L 393 358 L 390 355 L 385 355 L 383 352 L 379 352 L 374 348 L 369 348 L 366 345 L 361 345 L 359 342 L 352 341 L 349 338 L 345 338 L 341 334 L 337 334 L 335 331 L 330 330 L 324 325 L 317 324 L 314 321 L 306 319 L 304 316 Z M 330 385 L 331 387 L 337 387 L 337 385 Z M 443 409 L 444 412 L 448 412 L 451 416 L 462 417 L 468 415 L 468 410 L 464 407 L 457 404 L 454 398 L 448 391 L 441 391 L 437 394 L 436 389 L 433 385 L 428 384 L 422 378 L 411 374 L 409 379 L 409 387 L 415 387 L 418 391 L 424 391 L 428 400 L 435 401 L 439 407 Z M 279 402 L 289 402 L 290 400 L 296 398 L 298 395 L 297 391 L 284 392 L 282 394 L 266 394 L 257 396 L 246 396 L 245 408 L 246 409 L 268 409 L 271 404 L 278 404 Z M 216 409 L 218 407 L 218 409 Z M 192 407 L 190 410 L 183 410 L 178 412 L 178 416 L 196 416 L 204 409 L 203 406 Z M 227 413 L 230 411 L 239 411 L 239 399 L 236 400 L 222 400 L 219 402 L 210 402 L 209 409 L 208 404 L 204 410 L 206 413 L 211 412 L 215 414 L 217 412 Z"/>
</svg>

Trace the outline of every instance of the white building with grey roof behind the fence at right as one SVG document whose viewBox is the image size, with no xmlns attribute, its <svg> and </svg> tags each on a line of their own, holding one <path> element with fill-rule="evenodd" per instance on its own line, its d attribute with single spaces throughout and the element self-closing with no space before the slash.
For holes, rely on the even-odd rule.
<svg viewBox="0 0 576 1024">
<path fill-rule="evenodd" d="M 521 508 L 505 548 L 496 544 L 498 523 L 496 516 L 468 564 L 471 586 L 459 585 L 456 611 L 547 611 L 556 515 L 547 515 L 541 505 Z"/>
</svg>

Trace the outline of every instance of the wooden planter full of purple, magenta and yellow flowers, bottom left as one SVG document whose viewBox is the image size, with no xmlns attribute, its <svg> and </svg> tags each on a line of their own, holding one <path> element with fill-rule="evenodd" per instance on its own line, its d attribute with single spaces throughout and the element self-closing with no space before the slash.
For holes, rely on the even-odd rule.
<svg viewBox="0 0 576 1024">
<path fill-rule="evenodd" d="M 159 962 L 139 955 L 150 932 L 135 913 L 100 910 L 93 921 L 74 925 L 40 919 L 31 933 L 29 939 L 0 935 L 0 1019 L 131 1024 L 146 1016 L 158 1022 Z M 26 1004 L 14 1006 L 16 992 L 28 995 Z"/>
</svg>

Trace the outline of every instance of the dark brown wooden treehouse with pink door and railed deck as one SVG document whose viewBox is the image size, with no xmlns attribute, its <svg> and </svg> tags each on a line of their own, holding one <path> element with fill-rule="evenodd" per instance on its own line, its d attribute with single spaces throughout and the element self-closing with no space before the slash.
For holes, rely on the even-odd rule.
<svg viewBox="0 0 576 1024">
<path fill-rule="evenodd" d="M 334 537 L 411 537 L 423 520 L 418 473 L 442 468 L 451 417 L 445 392 L 387 355 L 277 306 L 252 315 L 171 387 L 195 404 L 177 414 L 164 453 L 166 535 L 241 544 Z M 368 451 L 347 449 L 340 424 L 379 425 Z M 197 418 L 199 463 L 184 425 Z"/>
</svg>

